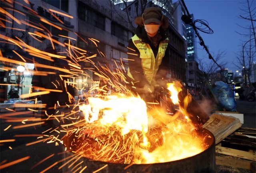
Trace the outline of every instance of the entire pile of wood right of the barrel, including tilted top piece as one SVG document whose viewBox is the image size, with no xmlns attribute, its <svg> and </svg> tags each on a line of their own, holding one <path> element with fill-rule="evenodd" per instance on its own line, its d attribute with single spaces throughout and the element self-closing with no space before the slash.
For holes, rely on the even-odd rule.
<svg viewBox="0 0 256 173">
<path fill-rule="evenodd" d="M 243 128 L 238 118 L 212 114 L 204 124 L 215 137 L 216 165 L 256 172 L 256 129 Z M 225 156 L 226 155 L 226 156 Z"/>
</svg>

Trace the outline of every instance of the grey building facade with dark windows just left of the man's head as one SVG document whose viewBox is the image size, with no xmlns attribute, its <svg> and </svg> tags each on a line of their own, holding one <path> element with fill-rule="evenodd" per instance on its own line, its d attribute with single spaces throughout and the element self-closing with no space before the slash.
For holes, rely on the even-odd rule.
<svg viewBox="0 0 256 173">
<path fill-rule="evenodd" d="M 96 55 L 92 61 L 95 65 L 108 65 L 110 69 L 116 69 L 123 65 L 128 69 L 127 46 L 132 37 L 132 28 L 124 22 L 127 16 L 112 2 L 106 0 L 79 0 L 78 1 L 78 47 L 86 50 L 90 55 Z M 97 40 L 96 44 L 93 40 Z M 100 53 L 101 52 L 101 53 Z M 91 64 L 92 65 L 92 64 Z M 99 77 L 91 70 L 85 69 L 90 76 L 78 77 L 83 81 L 79 88 L 90 88 L 98 85 Z"/>
</svg>

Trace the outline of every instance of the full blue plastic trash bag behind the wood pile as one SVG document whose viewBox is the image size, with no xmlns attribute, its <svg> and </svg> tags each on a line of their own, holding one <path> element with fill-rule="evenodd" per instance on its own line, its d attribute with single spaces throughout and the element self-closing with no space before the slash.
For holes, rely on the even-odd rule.
<svg viewBox="0 0 256 173">
<path fill-rule="evenodd" d="M 234 92 L 228 86 L 228 84 L 217 81 L 215 82 L 215 87 L 213 92 L 218 98 L 220 106 L 225 108 L 227 111 L 236 111 L 236 100 L 234 97 Z"/>
</svg>

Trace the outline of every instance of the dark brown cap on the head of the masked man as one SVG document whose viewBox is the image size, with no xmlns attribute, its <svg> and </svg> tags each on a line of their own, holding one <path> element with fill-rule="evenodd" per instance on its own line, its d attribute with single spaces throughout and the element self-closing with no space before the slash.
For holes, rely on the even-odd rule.
<svg viewBox="0 0 256 173">
<path fill-rule="evenodd" d="M 162 19 L 162 11 L 157 7 L 150 7 L 144 10 L 142 14 L 142 18 L 144 19 L 144 24 L 156 23 L 161 24 Z"/>
</svg>

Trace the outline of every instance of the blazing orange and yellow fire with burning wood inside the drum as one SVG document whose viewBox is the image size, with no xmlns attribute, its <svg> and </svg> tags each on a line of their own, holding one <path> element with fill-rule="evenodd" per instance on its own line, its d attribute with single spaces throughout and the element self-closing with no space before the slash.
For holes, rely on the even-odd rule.
<svg viewBox="0 0 256 173">
<path fill-rule="evenodd" d="M 169 86 L 178 104 L 181 88 Z M 86 122 L 72 147 L 85 157 L 113 163 L 159 163 L 190 157 L 206 148 L 206 136 L 197 133 L 187 116 L 188 101 L 170 116 L 156 108 L 148 114 L 140 98 L 105 99 L 88 98 L 89 104 L 80 106 Z"/>
</svg>

